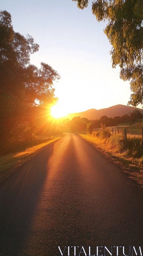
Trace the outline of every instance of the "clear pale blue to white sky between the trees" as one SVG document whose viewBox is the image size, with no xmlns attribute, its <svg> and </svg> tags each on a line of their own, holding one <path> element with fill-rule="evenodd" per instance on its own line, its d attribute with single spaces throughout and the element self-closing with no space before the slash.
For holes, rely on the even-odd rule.
<svg viewBox="0 0 143 256">
<path fill-rule="evenodd" d="M 46 62 L 60 74 L 59 108 L 72 113 L 127 105 L 130 84 L 119 78 L 119 68 L 112 69 L 106 24 L 98 23 L 91 3 L 79 10 L 72 0 L 4 0 L 1 9 L 11 13 L 16 32 L 40 45 L 31 63 Z"/>
</svg>

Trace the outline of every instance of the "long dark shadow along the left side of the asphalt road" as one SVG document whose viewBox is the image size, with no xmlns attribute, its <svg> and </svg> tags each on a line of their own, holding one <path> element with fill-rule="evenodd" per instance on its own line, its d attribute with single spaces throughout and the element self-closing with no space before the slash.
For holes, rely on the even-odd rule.
<svg viewBox="0 0 143 256">
<path fill-rule="evenodd" d="M 16 255 L 21 255 L 55 143 L 48 145 L 0 186 L 0 255 L 15 255 L 14 248 L 18 252 Z"/>
</svg>

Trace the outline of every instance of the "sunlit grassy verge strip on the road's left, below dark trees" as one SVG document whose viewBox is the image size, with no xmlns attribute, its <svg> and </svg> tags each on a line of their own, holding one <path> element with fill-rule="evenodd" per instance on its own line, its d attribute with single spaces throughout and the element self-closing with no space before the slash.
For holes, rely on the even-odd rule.
<svg viewBox="0 0 143 256">
<path fill-rule="evenodd" d="M 24 151 L 8 154 L 5 156 L 0 156 L 0 181 L 3 180 L 8 175 L 10 175 L 11 173 L 13 173 L 15 167 L 18 167 L 19 165 L 23 164 L 26 160 L 29 160 L 31 156 L 34 156 L 48 144 L 61 138 L 62 135 L 56 138 L 52 138 L 51 140 L 48 140 L 34 147 L 27 148 Z"/>
</svg>

